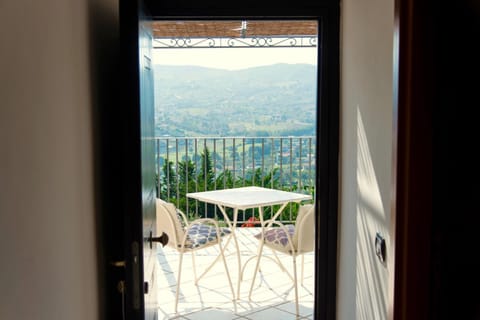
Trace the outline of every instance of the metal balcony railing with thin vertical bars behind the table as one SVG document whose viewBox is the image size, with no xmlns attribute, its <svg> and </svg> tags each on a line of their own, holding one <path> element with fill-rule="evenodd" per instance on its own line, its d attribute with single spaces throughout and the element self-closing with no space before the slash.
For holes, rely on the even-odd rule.
<svg viewBox="0 0 480 320">
<path fill-rule="evenodd" d="M 314 196 L 315 146 L 314 136 L 157 137 L 157 196 L 191 218 L 220 219 L 216 207 L 187 199 L 186 193 L 255 185 Z M 265 210 L 267 218 L 273 210 Z M 296 211 L 297 205 L 290 205 L 281 220 L 294 221 Z M 238 222 L 255 214 L 239 212 Z"/>
</svg>

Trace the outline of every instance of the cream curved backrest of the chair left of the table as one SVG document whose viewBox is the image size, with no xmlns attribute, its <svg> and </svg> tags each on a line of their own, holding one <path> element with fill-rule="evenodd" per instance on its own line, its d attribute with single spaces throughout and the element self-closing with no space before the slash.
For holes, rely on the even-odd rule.
<svg viewBox="0 0 480 320">
<path fill-rule="evenodd" d="M 182 227 L 177 215 L 177 208 L 173 203 L 165 202 L 157 198 L 157 234 L 165 232 L 168 235 L 167 246 L 178 249 L 185 229 Z"/>
</svg>

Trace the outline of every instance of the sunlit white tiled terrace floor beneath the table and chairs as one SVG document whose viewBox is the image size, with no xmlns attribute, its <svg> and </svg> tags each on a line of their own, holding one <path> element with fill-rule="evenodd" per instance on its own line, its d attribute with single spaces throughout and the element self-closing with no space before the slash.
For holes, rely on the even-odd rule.
<svg viewBox="0 0 480 320">
<path fill-rule="evenodd" d="M 248 298 L 255 259 L 248 260 L 256 254 L 258 240 L 254 234 L 257 228 L 238 228 L 237 237 L 240 245 L 242 266 L 249 261 L 244 269 L 240 287 L 240 298 L 236 306 L 232 301 L 232 293 L 221 260 L 199 281 L 194 284 L 191 254 L 185 254 L 180 285 L 178 313 L 174 312 L 175 291 L 178 277 L 179 253 L 167 248 L 158 249 L 157 289 L 159 295 L 158 319 L 182 320 L 287 320 L 313 319 L 313 253 L 305 255 L 304 285 L 298 286 L 300 316 L 295 315 L 295 293 L 293 282 L 281 271 L 277 264 L 268 258 L 261 260 L 261 272 L 257 275 L 251 301 Z M 238 283 L 238 267 L 234 242 L 227 247 L 227 265 L 233 282 L 235 293 Z M 218 254 L 218 249 L 211 247 L 197 251 L 195 263 L 200 275 L 206 266 Z M 273 257 L 268 248 L 264 248 L 263 256 Z M 284 266 L 293 275 L 292 258 L 279 255 Z M 297 259 L 298 277 L 301 276 L 301 258 Z"/>
</svg>

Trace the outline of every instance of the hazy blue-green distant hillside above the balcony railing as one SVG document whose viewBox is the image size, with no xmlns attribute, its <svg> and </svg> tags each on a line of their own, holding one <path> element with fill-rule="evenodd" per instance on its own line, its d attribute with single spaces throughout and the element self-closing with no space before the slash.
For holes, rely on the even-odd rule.
<svg viewBox="0 0 480 320">
<path fill-rule="evenodd" d="M 156 135 L 314 135 L 316 66 L 154 65 Z"/>
</svg>

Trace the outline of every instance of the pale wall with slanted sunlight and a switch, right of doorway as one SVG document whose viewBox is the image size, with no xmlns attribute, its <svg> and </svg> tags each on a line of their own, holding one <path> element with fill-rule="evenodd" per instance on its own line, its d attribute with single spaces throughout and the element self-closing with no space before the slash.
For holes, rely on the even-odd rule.
<svg viewBox="0 0 480 320">
<path fill-rule="evenodd" d="M 387 319 L 393 123 L 393 0 L 344 0 L 340 39 L 337 319 Z"/>
</svg>

